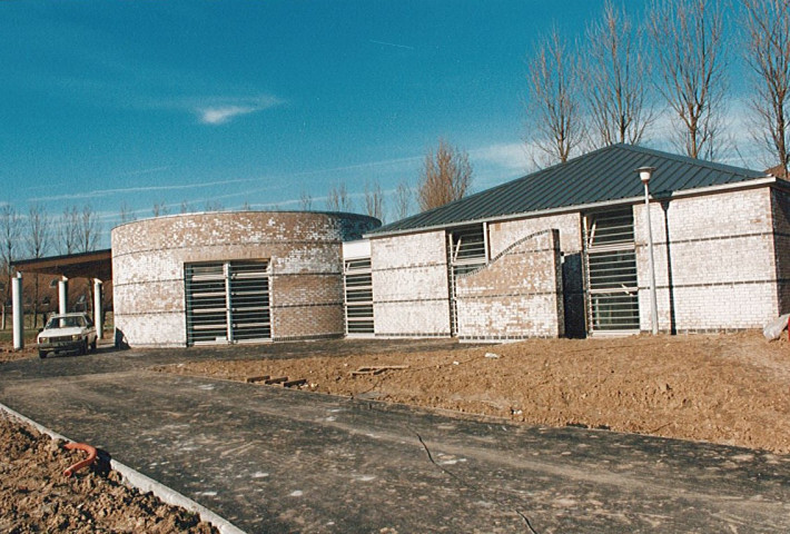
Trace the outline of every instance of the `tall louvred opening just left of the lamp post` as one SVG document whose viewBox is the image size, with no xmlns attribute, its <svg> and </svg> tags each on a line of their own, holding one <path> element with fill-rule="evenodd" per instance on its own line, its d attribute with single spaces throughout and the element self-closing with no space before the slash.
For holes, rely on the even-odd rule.
<svg viewBox="0 0 790 534">
<path fill-rule="evenodd" d="M 584 236 L 590 333 L 639 333 L 633 210 L 587 215 Z"/>
</svg>

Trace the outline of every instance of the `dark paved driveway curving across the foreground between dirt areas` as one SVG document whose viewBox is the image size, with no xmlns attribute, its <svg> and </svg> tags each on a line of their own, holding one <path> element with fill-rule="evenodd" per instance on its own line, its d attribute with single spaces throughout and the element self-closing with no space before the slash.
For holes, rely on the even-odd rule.
<svg viewBox="0 0 790 534">
<path fill-rule="evenodd" d="M 249 533 L 790 532 L 790 457 L 147 370 L 447 342 L 100 352 L 0 365 L 0 402 Z"/>
</svg>

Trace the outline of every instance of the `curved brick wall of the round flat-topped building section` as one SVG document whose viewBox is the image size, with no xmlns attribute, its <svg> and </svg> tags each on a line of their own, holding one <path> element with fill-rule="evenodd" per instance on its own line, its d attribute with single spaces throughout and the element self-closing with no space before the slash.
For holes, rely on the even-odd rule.
<svg viewBox="0 0 790 534">
<path fill-rule="evenodd" d="M 268 259 L 271 338 L 342 336 L 342 243 L 379 222 L 354 214 L 186 214 L 112 229 L 115 322 L 131 346 L 187 343 L 184 265 Z"/>
</svg>

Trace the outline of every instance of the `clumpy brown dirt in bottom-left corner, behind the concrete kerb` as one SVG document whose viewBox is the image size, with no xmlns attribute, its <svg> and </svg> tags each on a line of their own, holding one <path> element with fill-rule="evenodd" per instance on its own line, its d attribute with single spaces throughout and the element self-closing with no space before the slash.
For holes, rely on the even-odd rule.
<svg viewBox="0 0 790 534">
<path fill-rule="evenodd" d="M 199 516 L 126 486 L 118 473 L 63 471 L 86 453 L 0 413 L 0 532 L 218 533 Z"/>
</svg>

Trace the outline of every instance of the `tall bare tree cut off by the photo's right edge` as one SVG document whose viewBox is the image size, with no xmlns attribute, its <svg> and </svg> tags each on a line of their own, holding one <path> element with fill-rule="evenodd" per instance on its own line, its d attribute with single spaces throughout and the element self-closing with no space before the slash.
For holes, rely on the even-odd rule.
<svg viewBox="0 0 790 534">
<path fill-rule="evenodd" d="M 747 61 L 753 71 L 754 137 L 770 154 L 769 166 L 788 175 L 790 164 L 790 7 L 787 0 L 743 0 Z"/>
</svg>

